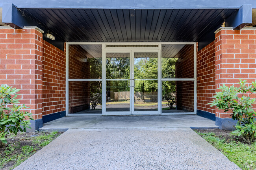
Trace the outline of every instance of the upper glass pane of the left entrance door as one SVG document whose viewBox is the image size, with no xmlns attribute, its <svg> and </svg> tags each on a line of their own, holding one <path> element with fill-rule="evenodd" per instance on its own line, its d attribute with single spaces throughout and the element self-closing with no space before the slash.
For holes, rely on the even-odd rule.
<svg viewBox="0 0 256 170">
<path fill-rule="evenodd" d="M 106 53 L 106 79 L 129 79 L 130 53 Z"/>
</svg>

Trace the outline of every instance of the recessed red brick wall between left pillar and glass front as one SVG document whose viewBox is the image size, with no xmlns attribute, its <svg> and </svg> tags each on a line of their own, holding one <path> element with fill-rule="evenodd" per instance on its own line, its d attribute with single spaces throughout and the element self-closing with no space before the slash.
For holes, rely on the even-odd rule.
<svg viewBox="0 0 256 170">
<path fill-rule="evenodd" d="M 43 40 L 43 115 L 65 111 L 65 52 Z"/>
</svg>

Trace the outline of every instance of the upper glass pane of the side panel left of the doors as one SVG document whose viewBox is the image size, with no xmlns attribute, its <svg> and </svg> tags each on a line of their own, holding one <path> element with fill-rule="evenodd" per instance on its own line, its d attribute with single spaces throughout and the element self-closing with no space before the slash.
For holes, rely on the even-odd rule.
<svg viewBox="0 0 256 170">
<path fill-rule="evenodd" d="M 69 45 L 69 79 L 102 79 L 102 45 Z"/>
</svg>

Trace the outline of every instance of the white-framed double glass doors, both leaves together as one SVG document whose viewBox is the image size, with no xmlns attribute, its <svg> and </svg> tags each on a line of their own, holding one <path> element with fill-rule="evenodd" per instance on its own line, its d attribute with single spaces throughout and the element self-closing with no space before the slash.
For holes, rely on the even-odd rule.
<svg viewBox="0 0 256 170">
<path fill-rule="evenodd" d="M 159 113 L 159 56 L 158 50 L 104 50 L 103 115 Z"/>
</svg>

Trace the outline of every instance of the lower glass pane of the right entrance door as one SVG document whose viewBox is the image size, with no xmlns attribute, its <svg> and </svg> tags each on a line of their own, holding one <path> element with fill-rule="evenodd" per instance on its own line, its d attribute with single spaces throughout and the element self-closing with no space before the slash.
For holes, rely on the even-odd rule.
<svg viewBox="0 0 256 170">
<path fill-rule="evenodd" d="M 135 80 L 134 111 L 158 110 L 157 80 Z"/>
</svg>

